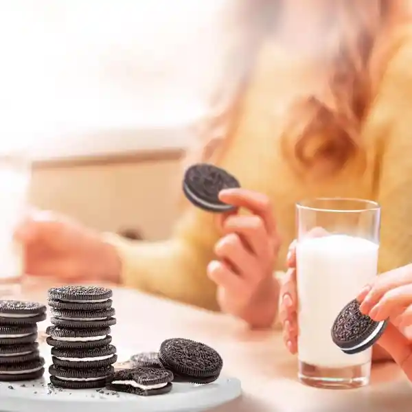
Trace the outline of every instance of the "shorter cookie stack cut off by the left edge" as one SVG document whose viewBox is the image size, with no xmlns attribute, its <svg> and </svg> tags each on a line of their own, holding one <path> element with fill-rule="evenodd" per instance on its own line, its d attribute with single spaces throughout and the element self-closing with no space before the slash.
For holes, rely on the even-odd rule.
<svg viewBox="0 0 412 412">
<path fill-rule="evenodd" d="M 45 360 L 38 352 L 37 323 L 45 319 L 46 307 L 42 304 L 0 301 L 0 381 L 43 376 Z"/>
</svg>

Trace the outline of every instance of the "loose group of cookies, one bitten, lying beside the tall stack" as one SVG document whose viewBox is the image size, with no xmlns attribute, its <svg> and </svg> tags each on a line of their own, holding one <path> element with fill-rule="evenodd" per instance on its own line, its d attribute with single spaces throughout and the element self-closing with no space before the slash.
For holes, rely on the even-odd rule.
<svg viewBox="0 0 412 412">
<path fill-rule="evenodd" d="M 204 385 L 220 376 L 223 361 L 218 352 L 190 339 L 168 339 L 159 352 L 145 352 L 130 358 L 131 368 L 116 371 L 107 389 L 152 396 L 168 393 L 173 382 Z"/>
</svg>

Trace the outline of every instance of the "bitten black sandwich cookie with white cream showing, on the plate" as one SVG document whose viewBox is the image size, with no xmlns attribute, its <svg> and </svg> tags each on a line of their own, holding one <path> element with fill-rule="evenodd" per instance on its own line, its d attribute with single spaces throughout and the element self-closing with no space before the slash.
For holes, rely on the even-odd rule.
<svg viewBox="0 0 412 412">
<path fill-rule="evenodd" d="M 172 380 L 172 372 L 166 369 L 137 367 L 115 372 L 106 388 L 139 396 L 162 395 L 172 390 Z"/>
</svg>

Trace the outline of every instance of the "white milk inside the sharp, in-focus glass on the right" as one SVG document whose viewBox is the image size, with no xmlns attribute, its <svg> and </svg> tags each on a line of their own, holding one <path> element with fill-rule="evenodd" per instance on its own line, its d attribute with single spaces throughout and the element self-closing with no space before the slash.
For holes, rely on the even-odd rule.
<svg viewBox="0 0 412 412">
<path fill-rule="evenodd" d="M 378 245 L 332 235 L 297 244 L 299 361 L 319 367 L 350 367 L 370 360 L 371 350 L 344 354 L 330 330 L 340 310 L 377 273 Z"/>
</svg>

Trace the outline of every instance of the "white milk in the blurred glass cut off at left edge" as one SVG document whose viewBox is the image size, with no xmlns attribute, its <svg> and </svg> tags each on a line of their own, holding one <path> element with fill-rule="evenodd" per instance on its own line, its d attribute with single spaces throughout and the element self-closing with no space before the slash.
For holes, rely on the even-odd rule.
<svg viewBox="0 0 412 412">
<path fill-rule="evenodd" d="M 13 241 L 14 229 L 23 217 L 30 176 L 0 168 L 0 282 L 22 272 L 22 253 Z"/>
</svg>

